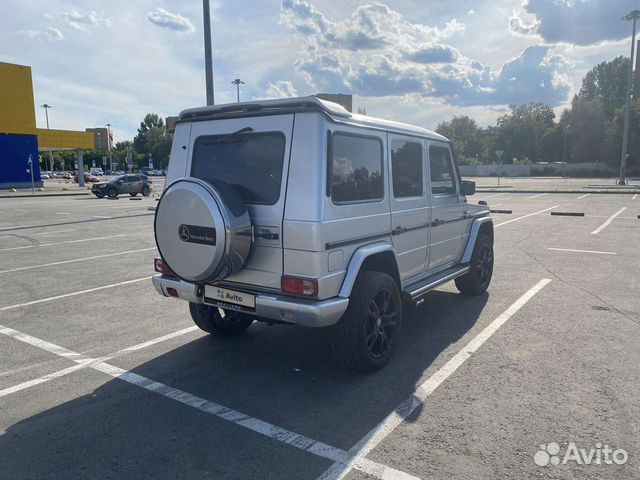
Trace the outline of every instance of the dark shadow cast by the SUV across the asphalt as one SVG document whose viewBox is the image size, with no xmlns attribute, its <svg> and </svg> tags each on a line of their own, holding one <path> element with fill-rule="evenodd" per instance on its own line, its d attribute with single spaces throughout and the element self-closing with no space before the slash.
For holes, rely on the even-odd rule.
<svg viewBox="0 0 640 480">
<path fill-rule="evenodd" d="M 399 348 L 375 374 L 337 365 L 326 332 L 261 323 L 242 337 L 201 337 L 132 371 L 348 450 L 413 393 L 425 369 L 473 327 L 488 299 L 432 292 L 420 308 L 405 311 Z M 126 366 L 125 361 L 113 363 Z M 102 379 L 102 374 L 95 375 Z M 0 478 L 9 472 L 11 478 L 20 477 L 19 472 L 24 478 L 142 473 L 185 478 L 189 470 L 190 478 L 205 471 L 214 478 L 229 473 L 225 462 L 251 462 L 247 458 L 253 456 L 236 459 L 248 448 L 258 457 L 269 448 L 295 450 L 275 447 L 272 440 L 239 426 L 110 380 L 90 395 L 9 428 L 0 437 Z M 287 455 L 295 468 L 295 454 Z M 268 467 L 259 472 L 261 477 L 282 473 L 280 465 L 264 461 Z M 319 474 L 327 464 L 318 465 Z M 309 477 L 317 476 L 305 468 Z"/>
</svg>

